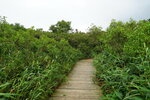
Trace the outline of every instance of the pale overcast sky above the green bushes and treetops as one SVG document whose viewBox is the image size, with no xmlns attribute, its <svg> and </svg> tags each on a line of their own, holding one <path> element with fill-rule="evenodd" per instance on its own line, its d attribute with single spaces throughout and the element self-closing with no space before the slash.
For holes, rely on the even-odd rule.
<svg viewBox="0 0 150 100">
<path fill-rule="evenodd" d="M 112 19 L 149 19 L 150 0 L 0 0 L 0 16 L 44 30 L 59 20 L 71 21 L 81 31 L 91 23 L 105 29 Z"/>
</svg>

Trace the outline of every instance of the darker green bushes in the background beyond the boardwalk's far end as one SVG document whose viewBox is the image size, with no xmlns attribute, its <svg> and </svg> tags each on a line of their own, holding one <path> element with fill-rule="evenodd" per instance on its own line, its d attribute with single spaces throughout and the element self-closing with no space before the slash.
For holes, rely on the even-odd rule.
<svg viewBox="0 0 150 100">
<path fill-rule="evenodd" d="M 56 41 L 68 40 L 69 44 L 82 52 L 84 58 L 92 58 L 102 51 L 102 42 L 99 40 L 101 33 L 72 33 L 72 34 L 49 34 L 47 36 Z"/>
</svg>

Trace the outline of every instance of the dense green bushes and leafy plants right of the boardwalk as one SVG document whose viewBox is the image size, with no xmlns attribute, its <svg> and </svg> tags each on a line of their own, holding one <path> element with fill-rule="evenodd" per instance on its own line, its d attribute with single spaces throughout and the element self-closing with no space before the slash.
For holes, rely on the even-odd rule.
<svg viewBox="0 0 150 100">
<path fill-rule="evenodd" d="M 94 59 L 105 100 L 150 100 L 150 22 L 112 21 Z"/>
</svg>

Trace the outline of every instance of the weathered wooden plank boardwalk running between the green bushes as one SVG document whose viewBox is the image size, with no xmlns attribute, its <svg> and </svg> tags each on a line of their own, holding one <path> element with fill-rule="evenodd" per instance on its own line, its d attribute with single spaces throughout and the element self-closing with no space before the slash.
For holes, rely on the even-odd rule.
<svg viewBox="0 0 150 100">
<path fill-rule="evenodd" d="M 79 61 L 68 77 L 49 100 L 98 100 L 100 88 L 92 81 L 92 60 Z"/>
</svg>

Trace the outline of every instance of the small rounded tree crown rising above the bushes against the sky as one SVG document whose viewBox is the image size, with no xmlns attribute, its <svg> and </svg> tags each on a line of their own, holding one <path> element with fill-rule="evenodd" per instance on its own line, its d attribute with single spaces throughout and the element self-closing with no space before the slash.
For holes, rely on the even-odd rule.
<svg viewBox="0 0 150 100">
<path fill-rule="evenodd" d="M 49 30 L 53 33 L 68 33 L 71 30 L 71 22 L 58 21 L 57 24 L 51 25 Z"/>
</svg>

